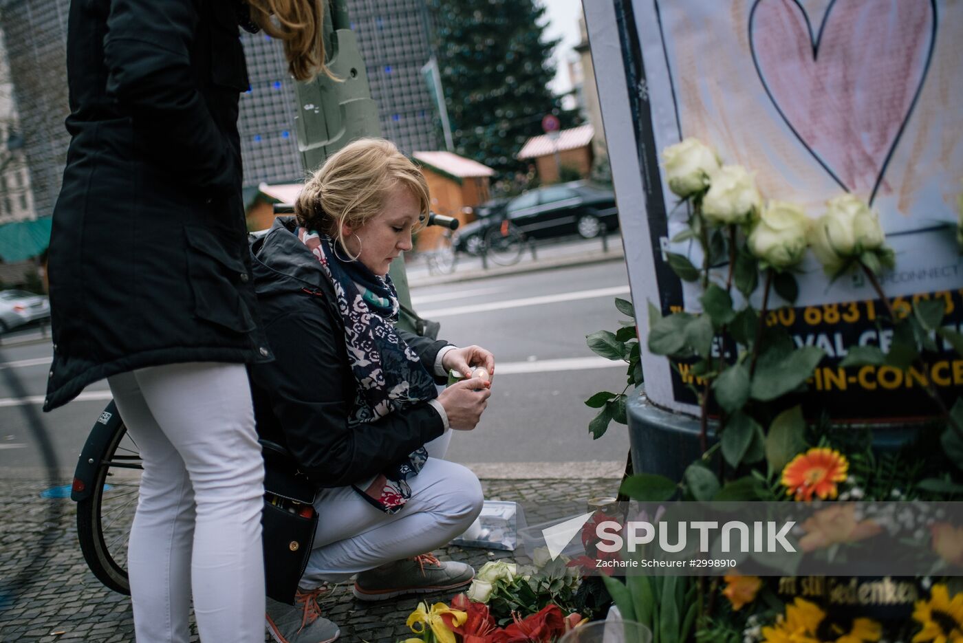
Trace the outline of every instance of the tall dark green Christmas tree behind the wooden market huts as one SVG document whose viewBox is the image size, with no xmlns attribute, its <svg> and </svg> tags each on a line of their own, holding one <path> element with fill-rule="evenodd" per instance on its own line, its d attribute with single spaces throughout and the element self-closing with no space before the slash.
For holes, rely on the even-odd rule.
<svg viewBox="0 0 963 643">
<path fill-rule="evenodd" d="M 428 0 L 455 151 L 506 177 L 528 164 L 515 154 L 543 134 L 541 119 L 563 112 L 547 85 L 555 77 L 542 39 L 545 8 L 535 0 Z"/>
</svg>

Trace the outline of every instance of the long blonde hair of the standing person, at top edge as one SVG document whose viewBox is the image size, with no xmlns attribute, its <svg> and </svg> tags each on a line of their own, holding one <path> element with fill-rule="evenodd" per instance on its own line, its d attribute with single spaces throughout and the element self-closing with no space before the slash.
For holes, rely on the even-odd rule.
<svg viewBox="0 0 963 643">
<path fill-rule="evenodd" d="M 341 80 L 331 74 L 325 64 L 325 2 L 247 0 L 250 19 L 268 36 L 284 41 L 288 70 L 299 81 L 312 80 L 319 73 Z"/>
</svg>

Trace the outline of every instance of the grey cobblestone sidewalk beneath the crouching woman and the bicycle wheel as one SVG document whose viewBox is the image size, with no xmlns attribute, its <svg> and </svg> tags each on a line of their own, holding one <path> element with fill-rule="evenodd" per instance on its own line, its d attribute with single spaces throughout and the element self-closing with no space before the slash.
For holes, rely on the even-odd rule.
<svg viewBox="0 0 963 643">
<path fill-rule="evenodd" d="M 617 479 L 482 480 L 485 498 L 515 502 L 584 502 L 612 496 Z M 105 588 L 87 569 L 76 539 L 76 505 L 68 499 L 45 500 L 49 481 L 0 480 L 0 641 L 133 641 L 130 599 Z M 52 516 L 51 512 L 59 513 Z M 56 518 L 56 520 L 52 520 Z M 537 522 L 530 516 L 529 523 Z M 43 554 L 46 547 L 45 555 Z M 510 552 L 487 552 L 450 546 L 435 551 L 441 559 L 471 563 L 510 558 Z M 13 579 L 21 577 L 17 585 Z M 12 586 L 13 583 L 13 586 Z M 447 601 L 451 593 L 399 598 L 364 604 L 351 597 L 350 585 L 331 588 L 322 607 L 341 627 L 346 643 L 380 643 L 403 639 L 404 625 L 419 600 Z M 192 620 L 191 641 L 199 640 Z M 265 638 L 271 641 L 270 637 Z M 221 642 L 213 642 L 221 643 Z"/>
</svg>

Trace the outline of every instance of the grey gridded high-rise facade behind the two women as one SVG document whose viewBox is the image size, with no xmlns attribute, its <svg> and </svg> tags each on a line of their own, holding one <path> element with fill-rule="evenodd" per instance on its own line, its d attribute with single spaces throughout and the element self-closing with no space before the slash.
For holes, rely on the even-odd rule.
<svg viewBox="0 0 963 643">
<path fill-rule="evenodd" d="M 37 214 L 49 216 L 60 191 L 69 137 L 64 119 L 69 0 L 0 0 L 13 95 Z M 421 68 L 430 58 L 423 0 L 349 0 L 351 28 L 365 60 L 382 135 L 404 152 L 438 149 L 437 126 Z M 241 97 L 246 187 L 302 180 L 295 81 L 281 43 L 243 33 L 250 89 Z M 2 209 L 0 198 L 0 209 Z"/>
</svg>

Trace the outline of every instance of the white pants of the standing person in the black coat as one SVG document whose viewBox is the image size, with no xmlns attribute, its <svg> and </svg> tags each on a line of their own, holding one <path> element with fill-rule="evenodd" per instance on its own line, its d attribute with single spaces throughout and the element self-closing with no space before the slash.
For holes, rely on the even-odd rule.
<svg viewBox="0 0 963 643">
<path fill-rule="evenodd" d="M 128 572 L 138 643 L 264 641 L 264 463 L 243 364 L 108 378 L 143 457 Z"/>
</svg>

